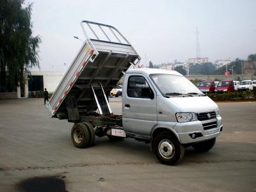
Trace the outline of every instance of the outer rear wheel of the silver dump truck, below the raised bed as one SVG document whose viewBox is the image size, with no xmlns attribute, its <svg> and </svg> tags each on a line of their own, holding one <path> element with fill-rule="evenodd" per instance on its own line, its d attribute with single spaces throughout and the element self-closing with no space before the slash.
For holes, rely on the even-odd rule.
<svg viewBox="0 0 256 192">
<path fill-rule="evenodd" d="M 84 124 L 74 124 L 71 130 L 71 139 L 77 148 L 90 146 L 90 133 Z"/>
</svg>

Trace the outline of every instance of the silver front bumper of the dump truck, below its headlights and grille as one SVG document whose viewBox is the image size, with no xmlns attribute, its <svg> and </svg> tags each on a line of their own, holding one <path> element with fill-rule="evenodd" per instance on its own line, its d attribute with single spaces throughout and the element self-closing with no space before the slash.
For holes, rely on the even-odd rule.
<svg viewBox="0 0 256 192">
<path fill-rule="evenodd" d="M 212 129 L 204 129 L 203 124 L 211 124 L 213 122 L 217 123 L 216 127 Z M 210 140 L 220 136 L 223 129 L 223 124 L 221 116 L 217 116 L 217 118 L 202 122 L 197 120 L 194 122 L 177 123 L 173 129 L 179 136 L 180 143 L 188 144 Z M 192 134 L 195 134 L 198 137 L 192 138 Z"/>
</svg>

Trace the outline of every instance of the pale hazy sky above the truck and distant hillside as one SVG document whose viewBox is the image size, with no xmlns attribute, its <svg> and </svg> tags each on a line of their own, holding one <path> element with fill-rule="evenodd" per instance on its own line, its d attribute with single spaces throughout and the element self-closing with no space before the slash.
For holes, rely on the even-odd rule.
<svg viewBox="0 0 256 192">
<path fill-rule="evenodd" d="M 26 1 L 27 3 L 32 1 Z M 196 26 L 201 57 L 210 61 L 246 59 L 256 53 L 256 1 L 33 1 L 33 33 L 42 37 L 41 70 L 64 70 L 84 40 L 81 20 L 119 29 L 145 66 L 186 61 L 196 56 Z M 147 64 L 148 65 L 148 64 Z M 54 66 L 54 67 L 53 67 Z"/>
</svg>

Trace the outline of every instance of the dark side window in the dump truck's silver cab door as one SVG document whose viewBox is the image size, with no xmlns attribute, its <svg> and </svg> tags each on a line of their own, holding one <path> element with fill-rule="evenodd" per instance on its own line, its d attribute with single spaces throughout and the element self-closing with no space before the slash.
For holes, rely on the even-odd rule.
<svg viewBox="0 0 256 192">
<path fill-rule="evenodd" d="M 128 79 L 127 86 L 128 97 L 153 99 L 154 93 L 148 86 L 148 83 L 144 77 L 141 76 L 131 76 Z M 153 97 L 153 98 L 152 98 Z"/>
</svg>

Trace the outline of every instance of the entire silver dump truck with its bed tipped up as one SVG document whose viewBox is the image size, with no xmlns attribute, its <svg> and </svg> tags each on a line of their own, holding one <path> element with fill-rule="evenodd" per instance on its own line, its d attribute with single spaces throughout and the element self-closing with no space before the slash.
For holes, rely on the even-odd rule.
<svg viewBox="0 0 256 192">
<path fill-rule="evenodd" d="M 215 102 L 179 72 L 136 68 L 140 56 L 113 26 L 88 20 L 81 26 L 86 40 L 47 102 L 52 118 L 74 123 L 74 146 L 90 147 L 95 136 L 134 138 L 169 165 L 182 160 L 185 147 L 214 147 L 223 129 Z M 122 115 L 116 115 L 107 95 L 124 74 Z"/>
</svg>

